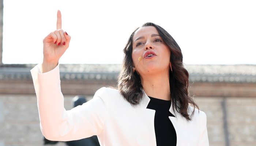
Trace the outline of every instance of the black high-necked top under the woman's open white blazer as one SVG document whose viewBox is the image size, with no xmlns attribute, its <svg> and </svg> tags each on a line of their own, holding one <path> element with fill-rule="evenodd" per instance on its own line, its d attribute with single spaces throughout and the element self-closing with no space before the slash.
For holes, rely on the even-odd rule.
<svg viewBox="0 0 256 146">
<path fill-rule="evenodd" d="M 177 136 L 169 116 L 174 116 L 170 113 L 170 100 L 162 100 L 149 97 L 150 102 L 147 108 L 155 110 L 155 138 L 157 146 L 176 146 Z"/>
</svg>

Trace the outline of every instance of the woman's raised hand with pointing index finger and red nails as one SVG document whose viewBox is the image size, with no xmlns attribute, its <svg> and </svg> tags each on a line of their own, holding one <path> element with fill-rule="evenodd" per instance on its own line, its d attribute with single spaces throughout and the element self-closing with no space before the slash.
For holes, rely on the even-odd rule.
<svg viewBox="0 0 256 146">
<path fill-rule="evenodd" d="M 57 30 L 51 32 L 44 38 L 44 60 L 42 72 L 54 69 L 60 57 L 68 49 L 71 37 L 61 29 L 61 13 L 57 12 Z"/>
</svg>

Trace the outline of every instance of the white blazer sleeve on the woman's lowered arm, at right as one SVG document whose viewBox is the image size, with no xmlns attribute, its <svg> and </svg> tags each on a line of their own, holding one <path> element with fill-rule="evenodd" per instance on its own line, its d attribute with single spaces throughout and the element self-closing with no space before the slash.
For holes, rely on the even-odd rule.
<svg viewBox="0 0 256 146">
<path fill-rule="evenodd" d="M 207 117 L 203 111 L 200 111 L 200 138 L 198 146 L 209 146 L 208 134 L 207 134 Z"/>
</svg>

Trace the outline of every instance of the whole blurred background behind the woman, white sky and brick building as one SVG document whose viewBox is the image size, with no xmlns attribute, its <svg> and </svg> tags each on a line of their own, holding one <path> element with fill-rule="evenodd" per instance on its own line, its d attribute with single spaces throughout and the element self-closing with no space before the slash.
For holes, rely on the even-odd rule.
<svg viewBox="0 0 256 146">
<path fill-rule="evenodd" d="M 253 1 L 0 0 L 0 146 L 43 146 L 30 74 L 56 13 L 72 40 L 60 60 L 64 106 L 116 87 L 123 47 L 145 22 L 180 45 L 189 91 L 207 115 L 211 146 L 256 145 L 256 9 Z M 48 144 L 50 145 L 50 144 Z M 55 145 L 65 146 L 64 142 Z"/>
</svg>

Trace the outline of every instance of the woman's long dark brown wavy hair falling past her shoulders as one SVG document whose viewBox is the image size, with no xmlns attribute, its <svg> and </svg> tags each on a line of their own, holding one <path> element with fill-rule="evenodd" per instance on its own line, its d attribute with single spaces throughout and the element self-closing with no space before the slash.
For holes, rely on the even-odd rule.
<svg viewBox="0 0 256 146">
<path fill-rule="evenodd" d="M 182 62 L 181 49 L 173 39 L 173 37 L 162 27 L 154 23 L 145 23 L 142 27 L 154 26 L 163 42 L 169 47 L 171 56 L 170 62 L 172 63 L 173 72 L 169 71 L 169 84 L 170 84 L 170 96 L 173 103 L 173 111 L 179 112 L 187 120 L 191 120 L 195 107 L 199 108 L 195 103 L 193 98 L 189 95 L 188 85 L 189 85 L 189 74 L 184 68 Z M 140 28 L 140 27 L 139 27 Z M 138 30 L 139 28 L 136 28 Z M 142 84 L 140 82 L 140 76 L 138 73 L 133 72 L 133 62 L 132 62 L 132 39 L 135 31 L 132 32 L 128 39 L 128 42 L 124 48 L 124 59 L 121 68 L 121 72 L 118 75 L 118 90 L 121 95 L 133 106 L 140 103 L 143 98 L 144 91 Z M 192 114 L 188 114 L 189 104 L 193 106 Z"/>
</svg>

